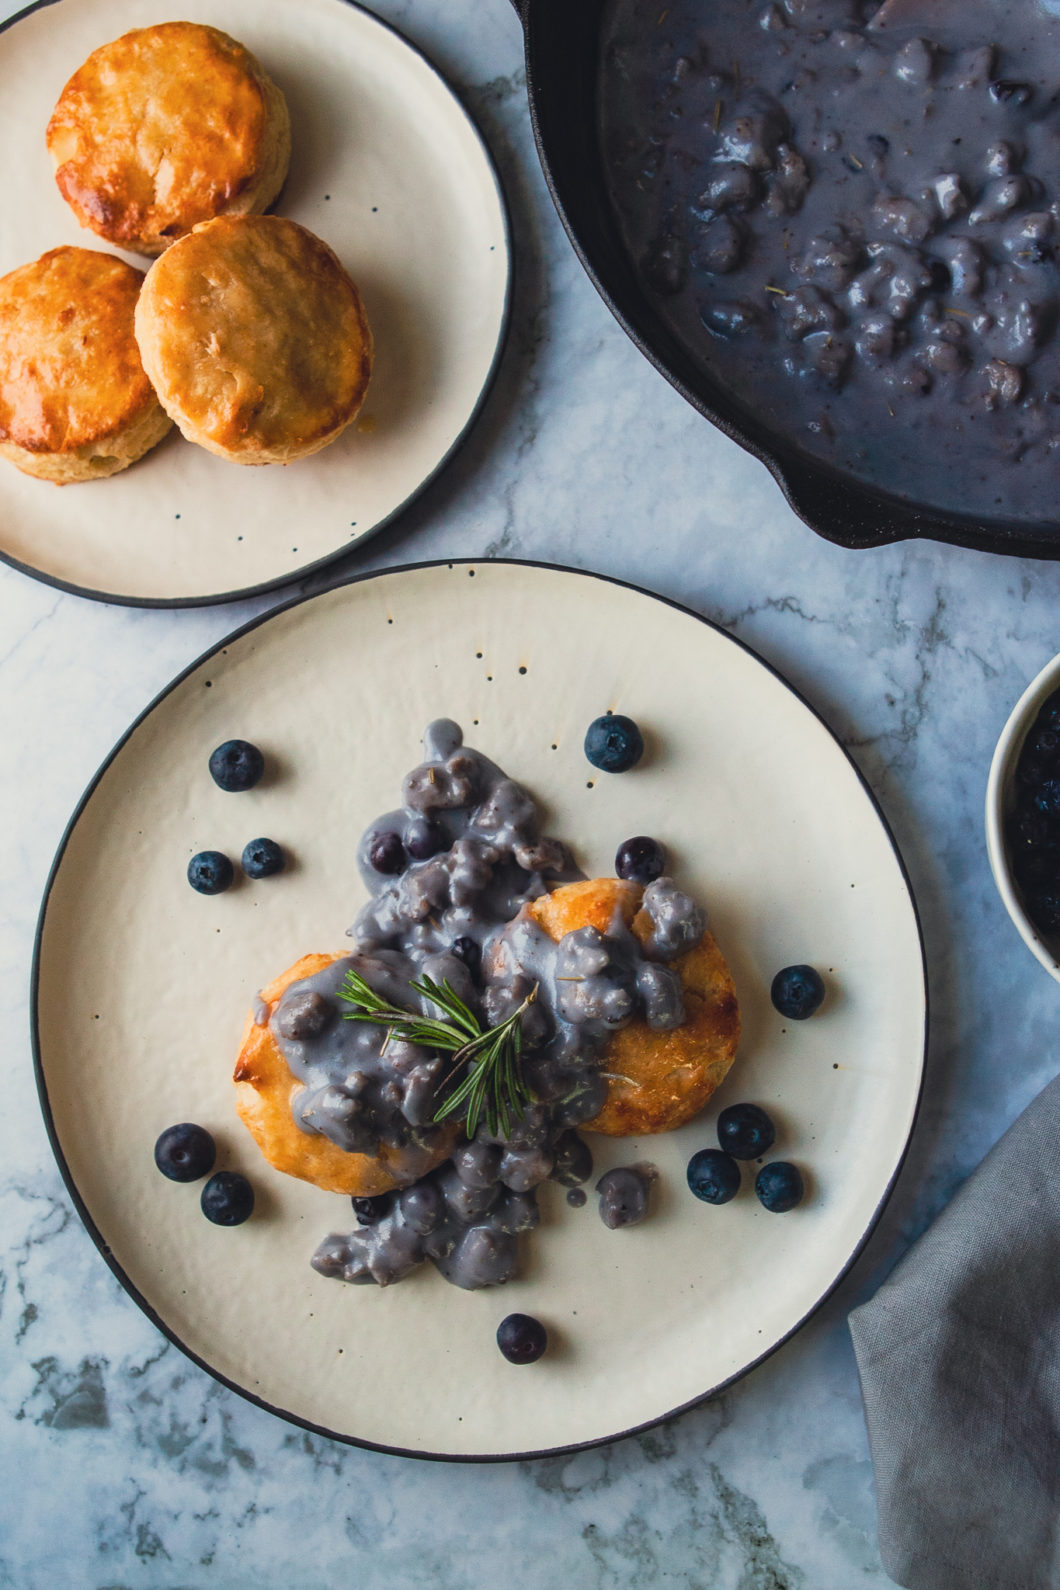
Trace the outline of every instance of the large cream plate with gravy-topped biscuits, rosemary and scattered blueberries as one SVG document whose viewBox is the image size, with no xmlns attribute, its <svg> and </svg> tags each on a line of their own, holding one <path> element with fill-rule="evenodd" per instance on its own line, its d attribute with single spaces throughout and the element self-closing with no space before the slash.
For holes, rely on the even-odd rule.
<svg viewBox="0 0 1060 1590">
<path fill-rule="evenodd" d="M 626 771 L 590 758 L 586 730 L 599 719 L 605 730 L 639 725 Z M 218 758 L 240 776 L 219 784 Z M 477 790 L 474 809 L 459 805 L 462 779 Z M 531 805 L 551 838 L 526 828 Z M 672 887 L 637 881 L 647 876 L 637 857 L 653 844 Z M 256 863 L 277 852 L 286 865 Z M 189 863 L 210 857 L 213 873 L 189 887 Z M 474 895 L 493 887 L 475 873 L 483 859 L 505 887 L 518 882 L 523 905 L 504 908 L 509 927 L 475 962 L 451 935 L 480 933 Z M 378 944 L 396 902 L 413 897 L 426 903 L 412 911 L 408 940 L 429 957 L 420 965 L 456 992 L 482 965 L 483 1008 L 509 954 L 529 965 L 520 960 L 529 941 L 556 968 L 572 1021 L 598 999 L 605 1014 L 620 1008 L 623 967 L 637 987 L 647 973 L 647 1024 L 618 1021 L 599 1072 L 607 1092 L 578 1103 L 591 1170 L 572 1169 L 569 1115 L 544 1169 L 523 1126 L 502 1124 L 497 1138 L 488 1102 L 494 1142 L 482 1126 L 461 1142 L 466 1118 L 423 1107 L 432 1076 L 450 1086 L 442 1056 L 453 1046 L 432 1040 L 416 1057 L 420 1037 L 399 1027 L 380 1037 L 370 1013 L 342 1024 L 362 1061 L 343 1059 L 332 1076 L 313 1061 L 311 1084 L 296 1081 L 335 989 L 358 968 L 370 984 L 380 964 L 400 964 Z M 691 916 L 701 940 L 685 951 L 690 940 L 674 933 Z M 652 948 L 666 924 L 667 948 Z M 625 949 L 593 962 L 596 935 Z M 450 940 L 464 971 L 434 954 Z M 663 1008 L 667 956 L 683 986 L 677 1026 Z M 791 1003 L 798 978 L 777 1002 L 782 968 L 803 981 L 817 968 L 812 1016 Z M 405 1003 L 410 986 L 391 978 L 391 999 Z M 521 1008 L 539 1011 L 542 991 L 539 979 L 537 1003 L 528 991 Z M 507 1006 L 489 1006 L 488 1019 L 501 1032 Z M 799 1329 L 860 1253 L 901 1167 L 927 991 L 893 838 L 791 685 L 699 615 L 620 582 L 458 561 L 289 603 L 145 711 L 59 849 L 33 1022 L 70 1194 L 159 1329 L 297 1425 L 472 1460 L 642 1429 Z M 518 1121 L 545 1099 L 567 1110 L 578 1094 L 545 1075 L 550 1040 L 528 1016 L 521 1030 L 532 1102 Z M 391 1068 L 380 1070 L 391 1041 Z M 731 1111 L 737 1124 L 766 1115 L 776 1142 L 764 1164 L 753 1142 L 741 1150 L 742 1185 L 707 1200 L 693 1169 L 704 1154 L 725 1161 Z M 386 1138 L 397 1113 L 404 1135 Z M 410 1135 L 415 1121 L 437 1124 Z M 176 1126 L 210 1134 L 216 1164 L 199 1173 L 213 1170 L 229 1189 L 248 1183 L 250 1218 L 215 1224 L 200 1210 L 202 1181 L 159 1175 L 153 1150 Z M 369 1127 L 393 1154 L 370 1146 Z M 410 1146 L 434 1158 L 410 1169 Z M 455 1169 L 439 1165 L 447 1154 Z M 486 1161 L 501 1162 L 499 1197 L 485 1185 Z M 763 1169 L 782 1164 L 799 1172 L 798 1207 L 768 1202 L 758 1186 Z M 631 1173 L 648 1207 L 637 1221 L 623 1213 Z M 413 1262 L 410 1227 L 393 1224 L 396 1208 L 408 1213 L 407 1192 L 420 1220 L 424 1188 L 437 1202 L 439 1185 L 470 1210 L 478 1247 L 459 1270 L 448 1247 Z M 364 1205 L 375 1197 L 397 1205 L 372 1224 L 380 1212 Z M 547 1329 L 536 1363 L 499 1350 L 510 1317 Z"/>
</svg>

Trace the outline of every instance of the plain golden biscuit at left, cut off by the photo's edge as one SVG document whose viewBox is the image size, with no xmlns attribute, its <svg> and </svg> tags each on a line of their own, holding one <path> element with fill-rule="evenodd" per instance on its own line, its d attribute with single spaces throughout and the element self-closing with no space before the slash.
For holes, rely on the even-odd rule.
<svg viewBox="0 0 1060 1590">
<path fill-rule="evenodd" d="M 141 281 L 89 248 L 0 278 L 0 456 L 27 475 L 99 480 L 170 429 L 132 334 Z"/>
</svg>

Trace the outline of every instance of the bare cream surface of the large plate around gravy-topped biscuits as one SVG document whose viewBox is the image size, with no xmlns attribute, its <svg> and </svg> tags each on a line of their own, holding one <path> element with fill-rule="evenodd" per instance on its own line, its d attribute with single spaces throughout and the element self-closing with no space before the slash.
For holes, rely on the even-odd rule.
<svg viewBox="0 0 1060 1590">
<path fill-rule="evenodd" d="M 612 708 L 644 728 L 634 771 L 585 762 Z M 717 1108 L 779 1124 L 776 1158 L 809 1188 L 769 1215 L 750 1177 L 723 1208 L 687 1191 L 715 1142 L 712 1108 L 640 1142 L 594 1138 L 598 1170 L 652 1159 L 642 1226 L 612 1232 L 596 1199 L 545 1188 L 544 1224 L 502 1293 L 434 1270 L 388 1289 L 310 1269 L 350 1229 L 345 1197 L 272 1172 L 234 1115 L 230 1072 L 254 991 L 313 949 L 340 949 L 361 900 L 356 838 L 396 805 L 432 717 L 542 801 L 582 868 L 653 833 L 709 906 L 744 1013 Z M 224 795 L 227 738 L 272 768 Z M 296 865 L 216 898 L 189 855 L 238 857 L 269 835 Z M 807 1022 L 769 1003 L 783 965 L 822 968 Z M 41 913 L 35 984 L 41 1091 L 72 1192 L 118 1275 L 219 1379 L 288 1418 L 423 1455 L 509 1456 L 613 1437 L 742 1374 L 834 1286 L 901 1162 L 925 1040 L 917 916 L 880 812 L 828 728 L 752 652 L 628 587 L 537 564 L 397 569 L 283 607 L 178 679 L 133 725 L 64 840 Z M 210 1226 L 199 1188 L 154 1169 L 157 1134 L 199 1121 L 259 1208 Z M 547 1321 L 532 1369 L 494 1347 L 513 1310 Z"/>
</svg>

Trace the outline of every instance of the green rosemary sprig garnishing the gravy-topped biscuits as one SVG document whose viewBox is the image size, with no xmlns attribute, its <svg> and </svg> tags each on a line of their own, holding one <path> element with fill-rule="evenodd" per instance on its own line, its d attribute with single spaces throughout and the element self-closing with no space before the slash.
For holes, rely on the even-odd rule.
<svg viewBox="0 0 1060 1590">
<path fill-rule="evenodd" d="M 451 1054 L 453 1065 L 442 1086 L 453 1081 L 456 1086 L 442 1099 L 434 1119 L 445 1121 L 464 1110 L 464 1129 L 469 1137 L 475 1135 L 483 1116 L 494 1137 L 497 1134 L 510 1137 L 512 1126 L 532 1103 L 532 1094 L 523 1081 L 521 1054 L 523 1016 L 537 999 L 537 984 L 507 1021 L 485 1032 L 448 979 L 439 984 L 424 975 L 408 986 L 437 1005 L 448 1019 L 440 1021 L 391 1005 L 369 987 L 358 971 L 346 971 L 339 999 L 356 1008 L 343 1011 L 343 1021 L 369 1021 L 386 1027 L 388 1037 Z"/>
</svg>

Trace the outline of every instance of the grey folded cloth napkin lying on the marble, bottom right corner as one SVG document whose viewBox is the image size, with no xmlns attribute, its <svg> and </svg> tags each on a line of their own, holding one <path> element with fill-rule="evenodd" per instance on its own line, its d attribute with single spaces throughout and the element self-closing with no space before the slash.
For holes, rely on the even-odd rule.
<svg viewBox="0 0 1060 1590">
<path fill-rule="evenodd" d="M 1060 1076 L 850 1334 L 890 1577 L 1060 1590 Z"/>
</svg>

